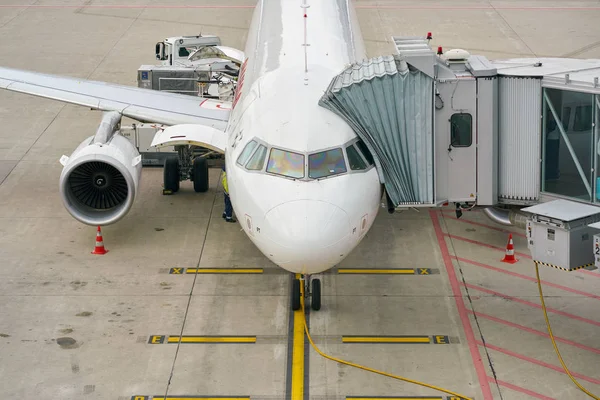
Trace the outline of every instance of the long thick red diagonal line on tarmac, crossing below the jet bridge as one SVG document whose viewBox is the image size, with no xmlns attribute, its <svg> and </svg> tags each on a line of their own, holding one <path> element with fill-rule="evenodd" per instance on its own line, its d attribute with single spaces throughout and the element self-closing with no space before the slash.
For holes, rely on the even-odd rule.
<svg viewBox="0 0 600 400">
<path fill-rule="evenodd" d="M 431 218 L 431 222 L 435 230 L 435 235 L 437 237 L 438 245 L 440 247 L 440 252 L 442 253 L 444 265 L 446 266 L 446 273 L 448 274 L 448 279 L 450 280 L 450 286 L 452 287 L 452 293 L 454 294 L 454 299 L 456 301 L 458 315 L 460 316 L 460 320 L 463 325 L 463 330 L 465 332 L 465 336 L 467 337 L 469 351 L 471 352 L 471 358 L 473 359 L 473 366 L 475 367 L 475 371 L 477 372 L 479 386 L 481 387 L 483 398 L 484 400 L 493 400 L 494 398 L 492 396 L 492 391 L 486 378 L 487 374 L 485 372 L 485 367 L 483 366 L 481 354 L 479 354 L 479 349 L 477 348 L 477 342 L 475 340 L 475 335 L 473 334 L 471 321 L 469 320 L 469 315 L 467 313 L 467 308 L 465 307 L 465 302 L 462 297 L 460 285 L 458 284 L 458 279 L 456 278 L 454 264 L 452 264 L 450 252 L 448 251 L 448 246 L 446 245 L 446 240 L 444 239 L 444 232 L 442 231 L 442 227 L 440 226 L 440 222 L 438 220 L 436 212 L 430 210 L 429 216 Z"/>
</svg>

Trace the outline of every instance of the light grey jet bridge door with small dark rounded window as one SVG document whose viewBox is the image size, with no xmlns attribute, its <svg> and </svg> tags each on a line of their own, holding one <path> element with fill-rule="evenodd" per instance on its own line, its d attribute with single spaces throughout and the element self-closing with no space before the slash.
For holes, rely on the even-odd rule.
<svg viewBox="0 0 600 400">
<path fill-rule="evenodd" d="M 449 202 L 472 202 L 477 196 L 476 85 L 466 74 L 437 82 L 436 188 L 437 197 Z"/>
</svg>

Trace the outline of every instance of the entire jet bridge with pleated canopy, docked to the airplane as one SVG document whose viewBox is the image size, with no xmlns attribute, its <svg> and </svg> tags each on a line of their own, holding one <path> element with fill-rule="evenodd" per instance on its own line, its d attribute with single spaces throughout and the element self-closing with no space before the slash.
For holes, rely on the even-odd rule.
<svg viewBox="0 0 600 400">
<path fill-rule="evenodd" d="M 393 41 L 395 55 L 349 66 L 319 104 L 367 144 L 394 206 L 485 206 L 511 224 L 498 207 L 600 202 L 600 60 L 490 61 Z"/>
</svg>

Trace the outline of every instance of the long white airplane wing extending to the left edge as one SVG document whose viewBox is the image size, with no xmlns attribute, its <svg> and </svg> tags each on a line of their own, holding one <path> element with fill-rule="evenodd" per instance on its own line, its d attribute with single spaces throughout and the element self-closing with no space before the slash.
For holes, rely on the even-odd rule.
<svg viewBox="0 0 600 400">
<path fill-rule="evenodd" d="M 0 89 L 117 111 L 140 122 L 225 130 L 230 102 L 0 67 Z"/>
</svg>

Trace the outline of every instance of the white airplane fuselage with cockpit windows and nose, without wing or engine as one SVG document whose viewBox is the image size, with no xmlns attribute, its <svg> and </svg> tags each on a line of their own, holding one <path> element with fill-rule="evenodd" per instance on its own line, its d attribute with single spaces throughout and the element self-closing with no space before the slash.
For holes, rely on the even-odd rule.
<svg viewBox="0 0 600 400">
<path fill-rule="evenodd" d="M 354 10 L 346 0 L 307 5 L 257 4 L 225 158 L 248 237 L 280 267 L 315 274 L 367 233 L 381 185 L 351 127 L 318 105 L 334 76 L 366 58 Z"/>
</svg>

